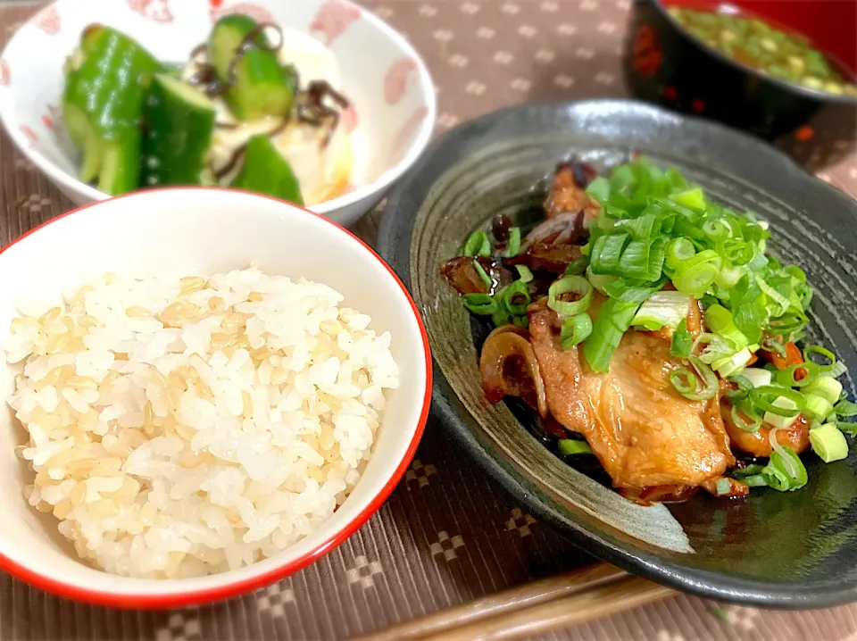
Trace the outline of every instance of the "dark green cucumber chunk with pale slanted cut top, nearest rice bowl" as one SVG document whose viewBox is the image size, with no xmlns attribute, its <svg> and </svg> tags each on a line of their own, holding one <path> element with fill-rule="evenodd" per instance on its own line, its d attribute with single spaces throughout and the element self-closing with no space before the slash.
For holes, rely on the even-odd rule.
<svg viewBox="0 0 857 641">
<path fill-rule="evenodd" d="M 144 114 L 148 130 L 143 142 L 142 186 L 202 184 L 215 120 L 208 96 L 159 73 Z"/>
</svg>

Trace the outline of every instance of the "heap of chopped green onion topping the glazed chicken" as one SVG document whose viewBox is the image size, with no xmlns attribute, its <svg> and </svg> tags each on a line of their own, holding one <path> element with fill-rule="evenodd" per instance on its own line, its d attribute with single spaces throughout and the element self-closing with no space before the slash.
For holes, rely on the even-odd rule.
<svg viewBox="0 0 857 641">
<path fill-rule="evenodd" d="M 583 248 L 584 256 L 567 268 L 566 275 L 586 273 L 591 286 L 607 296 L 582 343 L 594 370 L 607 370 L 631 324 L 645 329 L 672 327 L 670 354 L 694 359 L 693 367 L 673 372 L 679 391 L 710 392 L 707 373 L 716 394 L 715 371 L 728 377 L 738 387 L 727 395 L 737 408 L 736 424 L 743 429 L 759 429 L 762 421 L 776 429 L 804 411 L 808 419 L 826 419 L 836 412 L 831 409 L 828 416 L 820 416 L 828 411 L 828 404 L 839 400 L 836 377 L 845 373 L 845 366 L 828 350 L 807 348 L 805 362 L 779 370 L 746 367 L 760 344 L 785 355 L 785 344 L 800 340 L 809 323 L 812 289 L 800 268 L 781 265 L 765 255 L 770 237 L 766 222 L 708 201 L 703 190 L 688 184 L 680 172 L 663 171 L 644 158 L 615 168 L 609 179 L 595 179 L 587 193 L 602 204 L 602 210 L 590 226 L 592 236 Z M 702 301 L 711 334 L 691 340 L 686 306 L 684 314 L 653 312 L 653 305 L 665 295 L 677 296 L 677 292 L 661 291 L 668 277 L 686 300 Z M 566 303 L 562 297 L 554 288 L 549 301 Z M 568 317 L 566 341 L 575 334 L 570 320 L 583 307 L 557 310 Z M 853 429 L 857 430 L 857 423 Z M 800 470 L 783 452 L 773 455 L 765 470 L 748 475 L 753 479 L 749 483 L 789 489 L 801 480 Z"/>
</svg>

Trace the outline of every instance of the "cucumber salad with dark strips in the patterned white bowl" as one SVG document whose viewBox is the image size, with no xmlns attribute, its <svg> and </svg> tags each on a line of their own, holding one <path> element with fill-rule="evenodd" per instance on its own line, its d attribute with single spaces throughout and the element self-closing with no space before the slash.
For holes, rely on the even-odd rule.
<svg viewBox="0 0 857 641">
<path fill-rule="evenodd" d="M 79 178 L 105 194 L 204 185 L 318 204 L 350 181 L 337 61 L 302 33 L 229 14 L 175 64 L 93 24 L 64 71 Z"/>
</svg>

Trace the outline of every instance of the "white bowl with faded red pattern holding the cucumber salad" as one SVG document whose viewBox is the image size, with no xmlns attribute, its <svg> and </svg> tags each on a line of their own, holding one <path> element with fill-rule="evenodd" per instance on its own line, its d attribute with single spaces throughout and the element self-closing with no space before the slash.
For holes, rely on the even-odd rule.
<svg viewBox="0 0 857 641">
<path fill-rule="evenodd" d="M 187 61 L 228 13 L 295 29 L 337 59 L 351 105 L 340 126 L 354 147 L 352 180 L 310 207 L 349 225 L 379 202 L 420 156 L 434 128 L 435 89 L 405 38 L 349 0 L 57 0 L 37 12 L 0 54 L 0 121 L 14 143 L 69 196 L 87 204 L 110 196 L 78 179 L 79 152 L 62 127 L 62 65 L 87 25 L 119 29 L 162 61 Z"/>
</svg>

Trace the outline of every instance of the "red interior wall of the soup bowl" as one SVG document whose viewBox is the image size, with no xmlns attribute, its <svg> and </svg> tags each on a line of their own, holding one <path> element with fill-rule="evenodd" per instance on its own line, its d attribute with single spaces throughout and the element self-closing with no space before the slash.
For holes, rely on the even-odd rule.
<svg viewBox="0 0 857 641">
<path fill-rule="evenodd" d="M 686 6 L 716 11 L 735 6 L 770 21 L 773 27 L 786 27 L 809 37 L 815 46 L 845 64 L 846 71 L 857 74 L 857 2 L 853 0 L 731 0 L 728 3 L 707 0 L 662 0 L 665 6 Z"/>
</svg>

